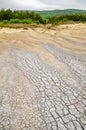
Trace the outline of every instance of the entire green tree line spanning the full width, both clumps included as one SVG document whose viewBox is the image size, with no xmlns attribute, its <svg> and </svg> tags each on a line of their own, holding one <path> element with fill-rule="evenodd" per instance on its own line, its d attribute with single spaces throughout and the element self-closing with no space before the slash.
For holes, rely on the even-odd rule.
<svg viewBox="0 0 86 130">
<path fill-rule="evenodd" d="M 39 13 L 34 11 L 19 11 L 19 10 L 10 10 L 10 9 L 1 9 L 0 10 L 0 22 L 3 23 L 64 23 L 68 21 L 79 21 L 86 22 L 86 14 L 66 14 L 61 16 L 50 16 L 47 19 L 44 19 Z"/>
</svg>

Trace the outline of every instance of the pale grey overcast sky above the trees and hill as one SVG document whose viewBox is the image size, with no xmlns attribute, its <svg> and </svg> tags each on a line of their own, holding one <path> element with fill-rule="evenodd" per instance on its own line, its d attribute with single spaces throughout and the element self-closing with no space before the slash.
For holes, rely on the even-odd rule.
<svg viewBox="0 0 86 130">
<path fill-rule="evenodd" d="M 52 10 L 52 9 L 85 9 L 86 0 L 0 0 L 0 8 Z"/>
</svg>

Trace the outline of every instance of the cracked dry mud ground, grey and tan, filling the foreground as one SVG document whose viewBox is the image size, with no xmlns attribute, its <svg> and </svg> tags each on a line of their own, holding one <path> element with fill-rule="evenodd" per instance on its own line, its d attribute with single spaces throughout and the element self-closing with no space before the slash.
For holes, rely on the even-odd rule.
<svg viewBox="0 0 86 130">
<path fill-rule="evenodd" d="M 86 130 L 86 26 L 0 30 L 0 130 Z"/>
</svg>

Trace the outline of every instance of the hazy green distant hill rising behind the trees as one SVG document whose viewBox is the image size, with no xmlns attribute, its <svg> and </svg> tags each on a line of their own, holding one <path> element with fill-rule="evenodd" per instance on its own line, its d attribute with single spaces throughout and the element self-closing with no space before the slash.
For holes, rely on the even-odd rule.
<svg viewBox="0 0 86 130">
<path fill-rule="evenodd" d="M 37 11 L 40 15 L 42 15 L 44 18 L 47 18 L 49 16 L 60 16 L 64 14 L 79 14 L 84 13 L 86 14 L 86 10 L 79 10 L 79 9 L 64 9 L 64 10 L 45 10 L 45 11 Z"/>
</svg>

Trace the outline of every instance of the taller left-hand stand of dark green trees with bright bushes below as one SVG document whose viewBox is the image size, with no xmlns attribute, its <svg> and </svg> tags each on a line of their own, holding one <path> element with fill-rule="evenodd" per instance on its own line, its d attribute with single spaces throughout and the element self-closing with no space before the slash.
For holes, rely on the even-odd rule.
<svg viewBox="0 0 86 130">
<path fill-rule="evenodd" d="M 34 11 L 19 11 L 19 10 L 0 10 L 0 21 L 4 22 L 14 22 L 14 23 L 19 23 L 19 22 L 36 22 L 36 23 L 42 23 L 45 24 L 46 20 L 42 18 L 42 16 Z"/>
</svg>

